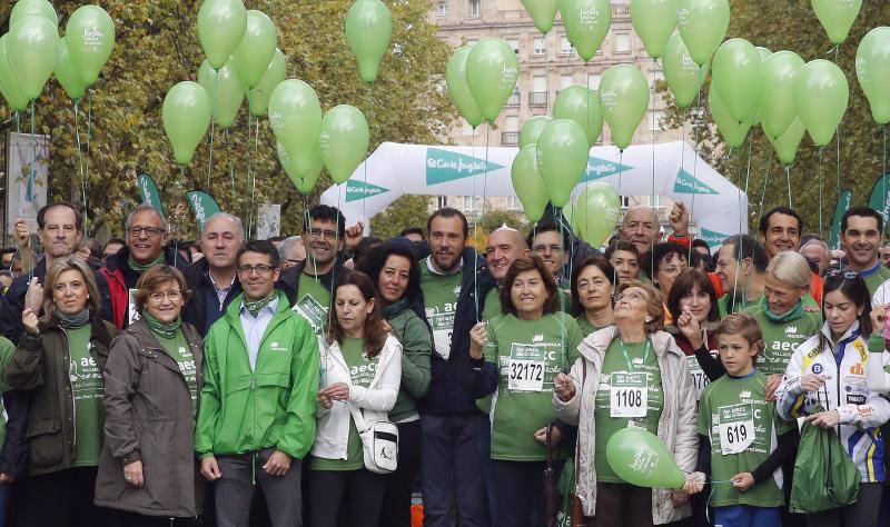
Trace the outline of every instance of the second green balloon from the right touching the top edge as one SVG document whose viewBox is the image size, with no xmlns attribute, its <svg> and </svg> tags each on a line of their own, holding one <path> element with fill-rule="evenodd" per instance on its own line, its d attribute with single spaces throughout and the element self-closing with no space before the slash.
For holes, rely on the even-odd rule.
<svg viewBox="0 0 890 527">
<path fill-rule="evenodd" d="M 680 0 L 676 12 L 680 37 L 692 60 L 703 66 L 711 60 L 730 27 L 729 0 Z"/>
</svg>

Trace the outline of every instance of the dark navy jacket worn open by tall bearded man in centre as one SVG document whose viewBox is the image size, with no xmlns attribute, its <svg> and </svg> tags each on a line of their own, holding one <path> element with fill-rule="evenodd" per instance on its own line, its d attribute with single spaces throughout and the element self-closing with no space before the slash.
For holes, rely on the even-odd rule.
<svg viewBox="0 0 890 527">
<path fill-rule="evenodd" d="M 421 410 L 426 414 L 476 414 L 478 411 L 474 397 L 477 374 L 469 360 L 469 330 L 482 319 L 485 296 L 497 287 L 497 282 L 488 274 L 485 260 L 471 248 L 464 249 L 462 272 L 451 354 L 448 360 L 443 359 L 438 354 L 433 354 L 429 390 L 421 400 Z M 476 299 L 478 299 L 478 310 Z"/>
</svg>

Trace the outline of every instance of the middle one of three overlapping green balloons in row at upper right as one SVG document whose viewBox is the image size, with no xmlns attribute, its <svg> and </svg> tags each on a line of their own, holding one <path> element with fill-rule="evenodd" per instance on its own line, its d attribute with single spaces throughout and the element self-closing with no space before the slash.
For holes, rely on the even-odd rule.
<svg viewBox="0 0 890 527">
<path fill-rule="evenodd" d="M 803 63 L 803 59 L 793 51 L 777 51 L 763 61 L 760 126 L 769 138 L 775 139 L 784 133 L 798 116 L 794 82 Z"/>
</svg>

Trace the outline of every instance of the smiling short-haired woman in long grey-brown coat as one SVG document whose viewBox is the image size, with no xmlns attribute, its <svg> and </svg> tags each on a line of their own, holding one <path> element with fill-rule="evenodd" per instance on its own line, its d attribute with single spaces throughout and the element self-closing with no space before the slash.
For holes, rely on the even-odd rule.
<svg viewBox="0 0 890 527">
<path fill-rule="evenodd" d="M 111 344 L 105 367 L 105 448 L 96 504 L 120 525 L 185 525 L 198 514 L 197 394 L 204 342 L 179 318 L 188 290 L 179 270 L 156 266 L 137 282 L 141 318 Z"/>
</svg>

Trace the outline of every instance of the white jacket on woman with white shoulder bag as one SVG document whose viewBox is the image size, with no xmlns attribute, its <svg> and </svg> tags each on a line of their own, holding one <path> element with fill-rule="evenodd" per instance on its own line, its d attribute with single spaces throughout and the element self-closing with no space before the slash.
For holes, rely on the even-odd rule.
<svg viewBox="0 0 890 527">
<path fill-rule="evenodd" d="M 325 459 L 346 459 L 349 439 L 349 405 L 364 409 L 367 422 L 387 420 L 398 396 L 402 379 L 402 344 L 392 335 L 386 337 L 377 361 L 374 379 L 367 388 L 353 386 L 349 367 L 343 358 L 339 344 L 322 348 L 322 375 L 327 386 L 336 382 L 349 385 L 349 401 L 334 401 L 329 409 L 318 406 L 317 430 L 312 455 Z M 359 430 L 360 431 L 360 430 Z"/>
</svg>

